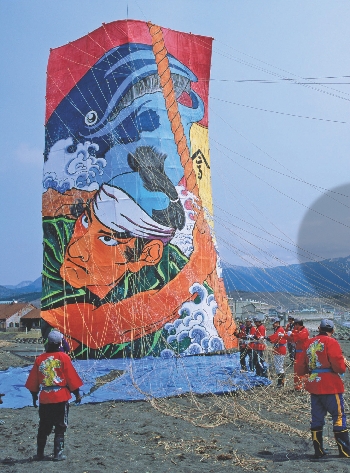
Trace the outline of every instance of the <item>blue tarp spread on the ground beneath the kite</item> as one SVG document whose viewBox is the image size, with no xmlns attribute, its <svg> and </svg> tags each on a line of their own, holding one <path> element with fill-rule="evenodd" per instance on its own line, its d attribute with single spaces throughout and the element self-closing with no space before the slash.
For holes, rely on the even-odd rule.
<svg viewBox="0 0 350 473">
<path fill-rule="evenodd" d="M 115 360 L 79 360 L 74 367 L 84 381 L 82 403 L 135 401 L 148 397 L 177 396 L 188 392 L 222 394 L 268 385 L 255 373 L 240 373 L 239 354 L 186 356 L 178 358 L 141 358 Z M 113 370 L 124 373 L 92 393 L 95 379 Z M 0 371 L 0 392 L 6 393 L 1 407 L 21 408 L 31 405 L 31 395 L 24 388 L 30 367 Z"/>
</svg>

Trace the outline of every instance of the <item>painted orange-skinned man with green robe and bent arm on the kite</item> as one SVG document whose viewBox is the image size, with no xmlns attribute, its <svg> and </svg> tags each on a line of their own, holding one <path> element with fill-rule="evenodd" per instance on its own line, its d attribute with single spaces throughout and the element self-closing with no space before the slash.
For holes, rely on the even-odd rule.
<svg viewBox="0 0 350 473">
<path fill-rule="evenodd" d="M 114 180 L 120 187 L 103 184 L 85 206 L 72 206 L 76 220 L 45 222 L 45 234 L 53 238 L 45 249 L 50 291 L 42 298 L 43 331 L 52 326 L 64 331 L 76 355 L 85 346 L 89 356 L 100 356 L 107 345 L 105 356 L 121 356 L 122 350 L 130 355 L 136 346 L 139 356 L 149 353 L 154 334 L 179 318 L 182 304 L 196 297 L 190 287 L 206 284 L 216 267 L 203 210 L 198 211 L 190 257 L 171 244 L 176 230 L 184 227 L 184 209 L 164 172 L 164 155 L 141 148 L 128 158 L 136 174 Z M 153 208 L 139 199 L 141 192 L 131 196 L 131 186 L 129 192 L 122 189 L 131 179 L 141 179 L 156 196 Z"/>
</svg>

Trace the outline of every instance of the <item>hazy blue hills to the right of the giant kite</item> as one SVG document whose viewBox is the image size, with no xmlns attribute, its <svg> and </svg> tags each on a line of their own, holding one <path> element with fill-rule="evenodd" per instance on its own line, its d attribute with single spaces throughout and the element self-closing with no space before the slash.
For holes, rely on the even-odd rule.
<svg viewBox="0 0 350 473">
<path fill-rule="evenodd" d="M 350 292 L 350 256 L 274 268 L 224 264 L 223 277 L 228 291 L 346 294 Z"/>
</svg>

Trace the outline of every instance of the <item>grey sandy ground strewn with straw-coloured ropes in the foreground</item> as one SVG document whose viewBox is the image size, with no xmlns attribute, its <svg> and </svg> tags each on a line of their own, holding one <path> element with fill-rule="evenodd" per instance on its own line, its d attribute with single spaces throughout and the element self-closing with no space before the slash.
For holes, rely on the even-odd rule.
<svg viewBox="0 0 350 473">
<path fill-rule="evenodd" d="M 350 358 L 350 342 L 341 344 Z M 6 348 L 0 347 L 0 369 L 28 364 Z M 349 393 L 350 373 L 345 383 Z M 283 390 L 272 385 L 237 396 L 72 405 L 66 434 L 68 458 L 60 463 L 49 456 L 52 435 L 46 460 L 32 461 L 37 410 L 5 406 L 6 396 L 0 410 L 5 421 L 0 425 L 0 470 L 5 473 L 350 471 L 350 460 L 337 457 L 329 419 L 324 433 L 330 458 L 310 462 L 309 396 L 293 392 L 291 367 Z"/>
</svg>

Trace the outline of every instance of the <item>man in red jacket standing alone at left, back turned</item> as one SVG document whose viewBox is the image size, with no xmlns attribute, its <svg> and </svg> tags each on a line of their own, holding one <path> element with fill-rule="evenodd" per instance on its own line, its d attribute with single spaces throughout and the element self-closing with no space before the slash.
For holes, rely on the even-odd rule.
<svg viewBox="0 0 350 473">
<path fill-rule="evenodd" d="M 44 459 L 47 436 L 55 427 L 55 461 L 65 460 L 63 455 L 64 433 L 68 425 L 68 401 L 71 392 L 75 402 L 80 403 L 79 388 L 83 382 L 75 371 L 68 355 L 60 351 L 63 335 L 53 330 L 48 335 L 46 353 L 38 356 L 31 369 L 25 387 L 33 397 L 33 406 L 39 394 L 39 428 L 35 460 Z"/>
</svg>

